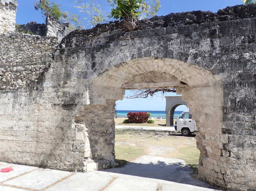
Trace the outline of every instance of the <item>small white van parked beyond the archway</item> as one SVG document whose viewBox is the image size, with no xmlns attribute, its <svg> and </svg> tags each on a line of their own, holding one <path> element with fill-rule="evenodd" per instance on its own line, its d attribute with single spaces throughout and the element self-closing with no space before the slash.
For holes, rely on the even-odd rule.
<svg viewBox="0 0 256 191">
<path fill-rule="evenodd" d="M 197 131 L 196 122 L 192 120 L 192 114 L 189 114 L 189 111 L 183 111 L 182 114 L 179 115 L 174 128 L 176 131 L 180 131 L 185 137 Z"/>
</svg>

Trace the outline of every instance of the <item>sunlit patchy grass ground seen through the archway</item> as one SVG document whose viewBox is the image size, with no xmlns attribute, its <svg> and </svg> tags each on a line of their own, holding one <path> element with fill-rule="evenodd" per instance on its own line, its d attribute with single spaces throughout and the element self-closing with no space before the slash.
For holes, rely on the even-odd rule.
<svg viewBox="0 0 256 191">
<path fill-rule="evenodd" d="M 173 131 L 116 129 L 115 141 L 116 160 L 123 165 L 143 155 L 150 155 L 152 146 L 159 145 L 176 149 L 160 157 L 182 159 L 193 171 L 197 170 L 200 151 L 196 148 L 194 137 L 183 137 Z"/>
</svg>

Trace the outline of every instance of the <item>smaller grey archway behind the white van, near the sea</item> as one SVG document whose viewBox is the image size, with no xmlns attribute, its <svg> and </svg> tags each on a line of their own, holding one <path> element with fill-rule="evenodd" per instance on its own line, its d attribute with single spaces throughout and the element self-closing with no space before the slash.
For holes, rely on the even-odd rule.
<svg viewBox="0 0 256 191">
<path fill-rule="evenodd" d="M 166 126 L 174 125 L 174 111 L 179 105 L 186 105 L 182 96 L 165 96 L 166 99 Z"/>
</svg>

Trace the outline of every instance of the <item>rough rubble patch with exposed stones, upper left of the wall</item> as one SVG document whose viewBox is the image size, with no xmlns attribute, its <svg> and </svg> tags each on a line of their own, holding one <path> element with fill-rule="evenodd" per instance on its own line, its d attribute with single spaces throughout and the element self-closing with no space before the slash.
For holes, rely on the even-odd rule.
<svg viewBox="0 0 256 191">
<path fill-rule="evenodd" d="M 16 90 L 48 68 L 58 39 L 12 33 L 1 34 L 0 44 L 0 90 Z"/>
</svg>

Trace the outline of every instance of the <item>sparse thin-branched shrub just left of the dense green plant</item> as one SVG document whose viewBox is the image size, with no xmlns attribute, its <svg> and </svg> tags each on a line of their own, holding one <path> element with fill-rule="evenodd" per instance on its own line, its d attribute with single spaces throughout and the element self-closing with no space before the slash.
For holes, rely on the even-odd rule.
<svg viewBox="0 0 256 191">
<path fill-rule="evenodd" d="M 79 12 L 83 12 L 86 14 L 86 17 L 81 19 L 85 22 L 85 28 L 88 25 L 95 27 L 98 23 L 104 23 L 107 21 L 105 14 L 103 13 L 100 5 L 95 0 L 90 0 L 88 3 L 82 3 L 83 0 L 76 0 L 79 6 L 75 6 L 78 9 L 81 9 Z"/>
</svg>

